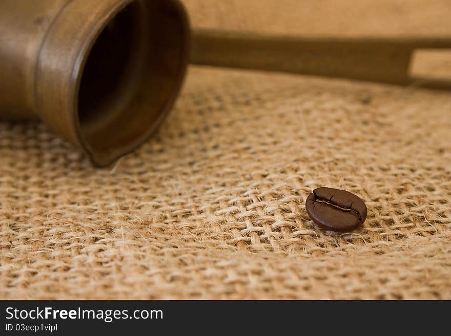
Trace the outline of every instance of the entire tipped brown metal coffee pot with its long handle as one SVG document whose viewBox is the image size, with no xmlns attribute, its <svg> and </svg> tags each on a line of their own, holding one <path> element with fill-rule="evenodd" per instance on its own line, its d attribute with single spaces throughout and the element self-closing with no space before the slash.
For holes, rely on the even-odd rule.
<svg viewBox="0 0 451 336">
<path fill-rule="evenodd" d="M 190 31 L 178 0 L 1 0 L 0 119 L 40 118 L 106 166 L 155 131 L 189 59 L 405 85 L 419 48 L 451 40 Z"/>
</svg>

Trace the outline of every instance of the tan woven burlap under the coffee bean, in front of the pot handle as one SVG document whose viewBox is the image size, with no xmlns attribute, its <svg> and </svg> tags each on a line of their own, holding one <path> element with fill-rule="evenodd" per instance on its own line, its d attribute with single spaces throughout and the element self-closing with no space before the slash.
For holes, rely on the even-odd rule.
<svg viewBox="0 0 451 336">
<path fill-rule="evenodd" d="M 0 297 L 451 299 L 450 129 L 449 92 L 194 66 L 111 169 L 0 124 Z M 363 227 L 318 229 L 319 186 Z"/>
</svg>

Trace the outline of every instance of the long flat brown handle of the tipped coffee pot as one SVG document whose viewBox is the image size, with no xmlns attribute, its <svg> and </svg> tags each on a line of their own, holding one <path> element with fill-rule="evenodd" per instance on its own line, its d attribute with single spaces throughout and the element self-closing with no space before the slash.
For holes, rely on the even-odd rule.
<svg viewBox="0 0 451 336">
<path fill-rule="evenodd" d="M 414 50 L 451 48 L 451 38 L 308 38 L 205 29 L 192 36 L 194 64 L 451 88 L 448 81 L 408 75 Z"/>
</svg>

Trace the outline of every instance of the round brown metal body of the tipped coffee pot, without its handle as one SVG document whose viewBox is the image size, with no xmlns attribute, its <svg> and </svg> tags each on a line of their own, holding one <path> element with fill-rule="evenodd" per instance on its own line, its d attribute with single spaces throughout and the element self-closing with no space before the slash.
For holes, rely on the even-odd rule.
<svg viewBox="0 0 451 336">
<path fill-rule="evenodd" d="M 0 119 L 40 118 L 106 166 L 171 109 L 189 37 L 178 0 L 2 0 Z"/>
</svg>

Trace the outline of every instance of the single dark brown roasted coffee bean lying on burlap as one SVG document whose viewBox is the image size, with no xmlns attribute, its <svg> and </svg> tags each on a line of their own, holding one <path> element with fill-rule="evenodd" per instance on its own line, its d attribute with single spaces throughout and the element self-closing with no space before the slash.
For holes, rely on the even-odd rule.
<svg viewBox="0 0 451 336">
<path fill-rule="evenodd" d="M 326 230 L 347 232 L 366 219 L 366 206 L 358 196 L 340 189 L 317 188 L 305 201 L 310 218 Z"/>
</svg>

